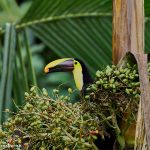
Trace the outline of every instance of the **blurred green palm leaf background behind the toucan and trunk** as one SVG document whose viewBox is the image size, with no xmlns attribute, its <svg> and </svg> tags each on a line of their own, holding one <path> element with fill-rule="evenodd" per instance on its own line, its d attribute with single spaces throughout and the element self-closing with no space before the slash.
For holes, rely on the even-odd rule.
<svg viewBox="0 0 150 150">
<path fill-rule="evenodd" d="M 150 50 L 150 1 L 145 0 L 145 51 Z M 75 89 L 71 73 L 45 75 L 44 66 L 79 58 L 94 78 L 112 62 L 112 0 L 0 1 L 0 122 L 33 85 L 49 93 Z"/>
</svg>

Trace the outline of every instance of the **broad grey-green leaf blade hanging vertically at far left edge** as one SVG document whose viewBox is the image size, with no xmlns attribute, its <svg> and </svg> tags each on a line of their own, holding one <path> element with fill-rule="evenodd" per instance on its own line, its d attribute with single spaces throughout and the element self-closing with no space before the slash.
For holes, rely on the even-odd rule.
<svg viewBox="0 0 150 150">
<path fill-rule="evenodd" d="M 2 122 L 2 120 L 6 119 L 6 115 L 3 115 L 2 118 L 2 111 L 5 108 L 9 109 L 12 104 L 11 92 L 16 46 L 15 37 L 16 32 L 14 26 L 11 24 L 6 24 L 3 52 L 3 68 L 0 86 L 0 123 Z"/>
</svg>

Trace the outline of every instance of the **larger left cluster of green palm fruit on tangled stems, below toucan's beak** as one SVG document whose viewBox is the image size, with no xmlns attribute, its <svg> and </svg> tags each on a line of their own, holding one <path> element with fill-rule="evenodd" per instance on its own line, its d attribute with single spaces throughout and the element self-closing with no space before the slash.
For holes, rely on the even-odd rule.
<svg viewBox="0 0 150 150">
<path fill-rule="evenodd" d="M 59 96 L 58 90 L 53 90 L 55 99 L 45 89 L 40 95 L 35 87 L 30 91 L 26 104 L 4 123 L 2 147 L 94 149 L 93 132 L 99 129 L 95 116 L 83 113 L 80 103 L 69 103 L 69 96 Z"/>
</svg>

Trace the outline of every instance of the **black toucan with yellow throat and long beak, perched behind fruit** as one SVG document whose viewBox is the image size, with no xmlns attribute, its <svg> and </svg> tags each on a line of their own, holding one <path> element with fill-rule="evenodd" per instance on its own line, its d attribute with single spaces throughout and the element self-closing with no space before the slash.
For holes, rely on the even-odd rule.
<svg viewBox="0 0 150 150">
<path fill-rule="evenodd" d="M 71 71 L 73 73 L 76 87 L 80 91 L 85 91 L 85 87 L 87 87 L 88 84 L 93 82 L 85 64 L 79 59 L 58 59 L 50 62 L 44 68 L 45 73 L 68 71 Z"/>
</svg>

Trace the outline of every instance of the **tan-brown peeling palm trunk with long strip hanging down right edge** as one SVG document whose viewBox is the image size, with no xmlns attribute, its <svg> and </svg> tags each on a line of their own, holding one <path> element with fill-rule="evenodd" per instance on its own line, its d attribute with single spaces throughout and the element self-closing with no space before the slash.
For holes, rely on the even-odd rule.
<svg viewBox="0 0 150 150">
<path fill-rule="evenodd" d="M 134 55 L 141 83 L 146 140 L 150 149 L 150 87 L 144 54 L 144 0 L 113 0 L 113 63 L 127 52 Z"/>
</svg>

